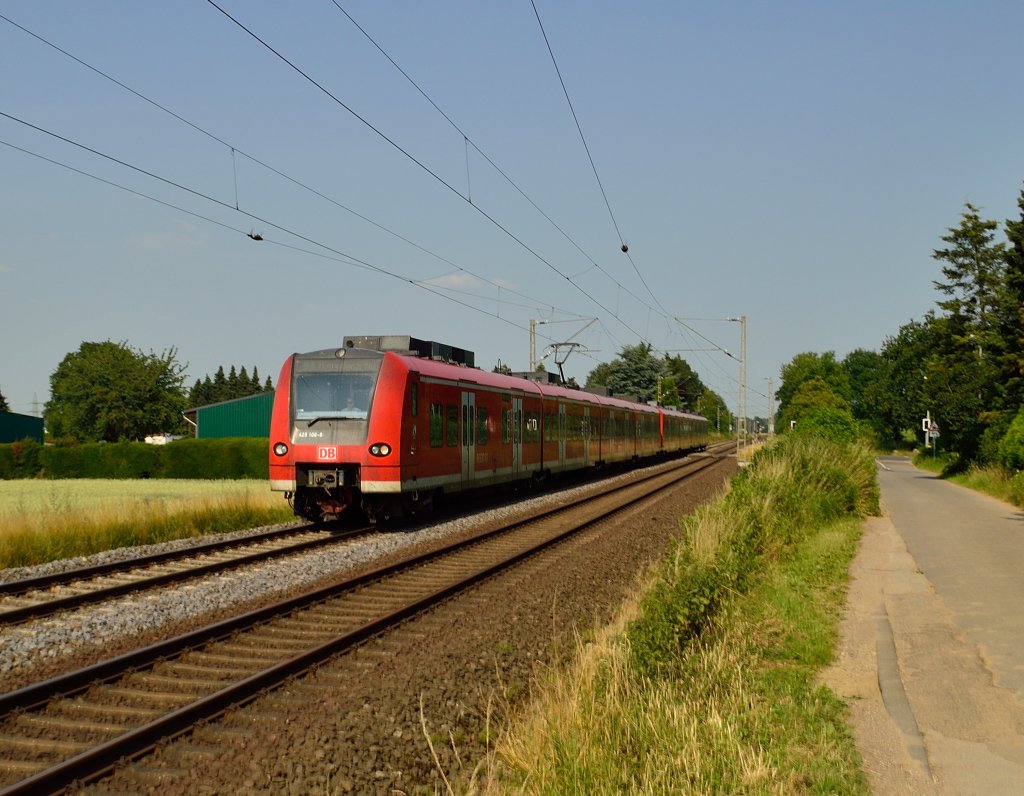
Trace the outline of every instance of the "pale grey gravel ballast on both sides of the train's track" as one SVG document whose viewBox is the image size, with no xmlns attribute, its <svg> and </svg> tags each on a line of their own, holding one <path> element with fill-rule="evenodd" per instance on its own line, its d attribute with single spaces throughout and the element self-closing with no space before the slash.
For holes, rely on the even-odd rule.
<svg viewBox="0 0 1024 796">
<path fill-rule="evenodd" d="M 604 481 L 635 478 L 633 471 Z M 0 628 L 0 692 L 66 669 L 70 659 L 98 660 L 132 639 L 154 637 L 162 629 L 180 630 L 225 614 L 234 606 L 258 604 L 295 594 L 327 578 L 368 567 L 403 549 L 466 532 L 481 522 L 499 521 L 538 506 L 563 503 L 594 485 L 549 493 L 514 505 L 490 509 L 471 517 L 431 525 L 413 531 L 372 533 L 337 547 L 265 561 L 188 581 L 183 585 L 151 589 L 74 612 Z M 597 489 L 601 489 L 598 487 Z M 218 535 L 217 539 L 244 538 L 268 530 L 251 529 Z M 122 561 L 168 549 L 183 549 L 210 541 L 210 537 L 177 540 L 159 545 L 108 550 L 95 555 L 53 561 L 38 567 L 0 570 L 0 582 L 20 580 L 80 567 Z M 42 671 L 41 671 L 42 670 Z"/>
</svg>

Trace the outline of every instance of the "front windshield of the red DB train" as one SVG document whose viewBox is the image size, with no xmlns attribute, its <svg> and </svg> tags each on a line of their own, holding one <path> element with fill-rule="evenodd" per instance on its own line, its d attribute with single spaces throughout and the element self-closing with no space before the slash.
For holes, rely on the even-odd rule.
<svg viewBox="0 0 1024 796">
<path fill-rule="evenodd" d="M 295 363 L 295 419 L 366 420 L 381 358 L 315 359 Z"/>
</svg>

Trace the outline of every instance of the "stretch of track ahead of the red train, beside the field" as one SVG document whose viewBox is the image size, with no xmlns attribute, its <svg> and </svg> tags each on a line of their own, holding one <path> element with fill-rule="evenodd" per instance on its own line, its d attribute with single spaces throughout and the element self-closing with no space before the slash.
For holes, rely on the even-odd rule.
<svg viewBox="0 0 1024 796">
<path fill-rule="evenodd" d="M 0 583 L 0 625 L 26 622 L 125 594 L 167 586 L 284 555 L 337 544 L 372 529 L 313 525 L 266 531 L 123 561 Z"/>
</svg>

